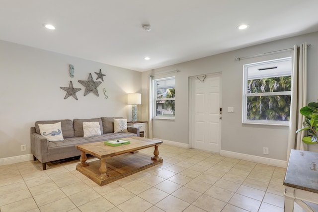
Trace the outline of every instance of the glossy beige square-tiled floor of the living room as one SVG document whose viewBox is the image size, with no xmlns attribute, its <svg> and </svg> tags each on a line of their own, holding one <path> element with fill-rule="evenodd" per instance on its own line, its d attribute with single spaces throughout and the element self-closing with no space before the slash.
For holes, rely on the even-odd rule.
<svg viewBox="0 0 318 212">
<path fill-rule="evenodd" d="M 0 166 L 0 212 L 283 212 L 285 168 L 165 144 L 159 152 L 162 164 L 105 186 L 79 173 L 78 159 L 45 171 L 39 161 Z"/>
</svg>

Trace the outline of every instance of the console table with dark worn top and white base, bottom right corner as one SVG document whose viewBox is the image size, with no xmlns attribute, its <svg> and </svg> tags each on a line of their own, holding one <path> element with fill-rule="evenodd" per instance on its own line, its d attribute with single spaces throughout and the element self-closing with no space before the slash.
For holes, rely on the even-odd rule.
<svg viewBox="0 0 318 212">
<path fill-rule="evenodd" d="M 315 212 L 303 201 L 318 204 L 318 152 L 292 149 L 283 185 L 284 212 L 293 212 L 294 202 L 307 212 Z"/>
</svg>

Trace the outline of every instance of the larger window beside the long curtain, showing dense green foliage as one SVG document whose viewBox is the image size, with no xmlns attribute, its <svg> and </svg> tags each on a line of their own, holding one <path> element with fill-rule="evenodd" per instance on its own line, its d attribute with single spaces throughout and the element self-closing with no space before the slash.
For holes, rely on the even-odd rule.
<svg viewBox="0 0 318 212">
<path fill-rule="evenodd" d="M 243 123 L 288 125 L 291 58 L 244 65 Z"/>
</svg>

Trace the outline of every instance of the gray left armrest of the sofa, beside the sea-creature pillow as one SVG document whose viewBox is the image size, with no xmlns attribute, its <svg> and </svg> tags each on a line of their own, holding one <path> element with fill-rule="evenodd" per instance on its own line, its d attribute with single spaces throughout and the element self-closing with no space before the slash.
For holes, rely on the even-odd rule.
<svg viewBox="0 0 318 212">
<path fill-rule="evenodd" d="M 46 161 L 47 153 L 48 153 L 48 140 L 37 133 L 30 134 L 30 141 L 31 141 L 31 153 L 39 159 L 42 163 L 48 162 Z"/>
</svg>

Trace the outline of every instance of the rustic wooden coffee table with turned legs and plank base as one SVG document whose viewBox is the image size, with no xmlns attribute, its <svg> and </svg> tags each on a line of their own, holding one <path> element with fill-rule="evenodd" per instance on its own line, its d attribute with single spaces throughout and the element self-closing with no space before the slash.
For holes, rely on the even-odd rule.
<svg viewBox="0 0 318 212">
<path fill-rule="evenodd" d="M 158 150 L 158 146 L 162 144 L 162 141 L 141 137 L 127 137 L 120 140 L 130 141 L 130 144 L 109 146 L 104 144 L 104 141 L 100 141 L 76 145 L 76 148 L 81 151 L 80 163 L 76 166 L 76 170 L 98 185 L 103 186 L 162 163 L 163 160 L 159 157 Z M 142 153 L 133 154 L 140 149 L 152 146 L 155 147 L 155 156 L 151 158 L 149 155 Z M 95 156 L 99 160 L 87 163 L 86 153 Z"/>
</svg>

